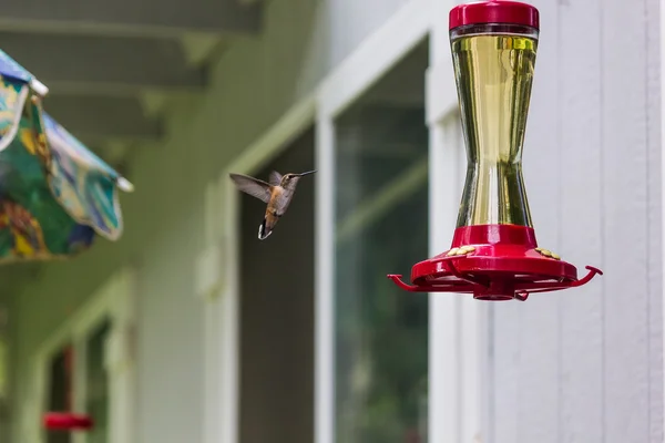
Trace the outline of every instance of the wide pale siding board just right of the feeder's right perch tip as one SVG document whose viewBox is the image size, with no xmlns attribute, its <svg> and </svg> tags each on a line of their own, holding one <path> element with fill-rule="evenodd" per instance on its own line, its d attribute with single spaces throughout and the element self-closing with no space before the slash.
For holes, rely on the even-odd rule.
<svg viewBox="0 0 665 443">
<path fill-rule="evenodd" d="M 605 442 L 640 443 L 649 437 L 646 11 L 607 1 L 601 18 Z"/>
</svg>

